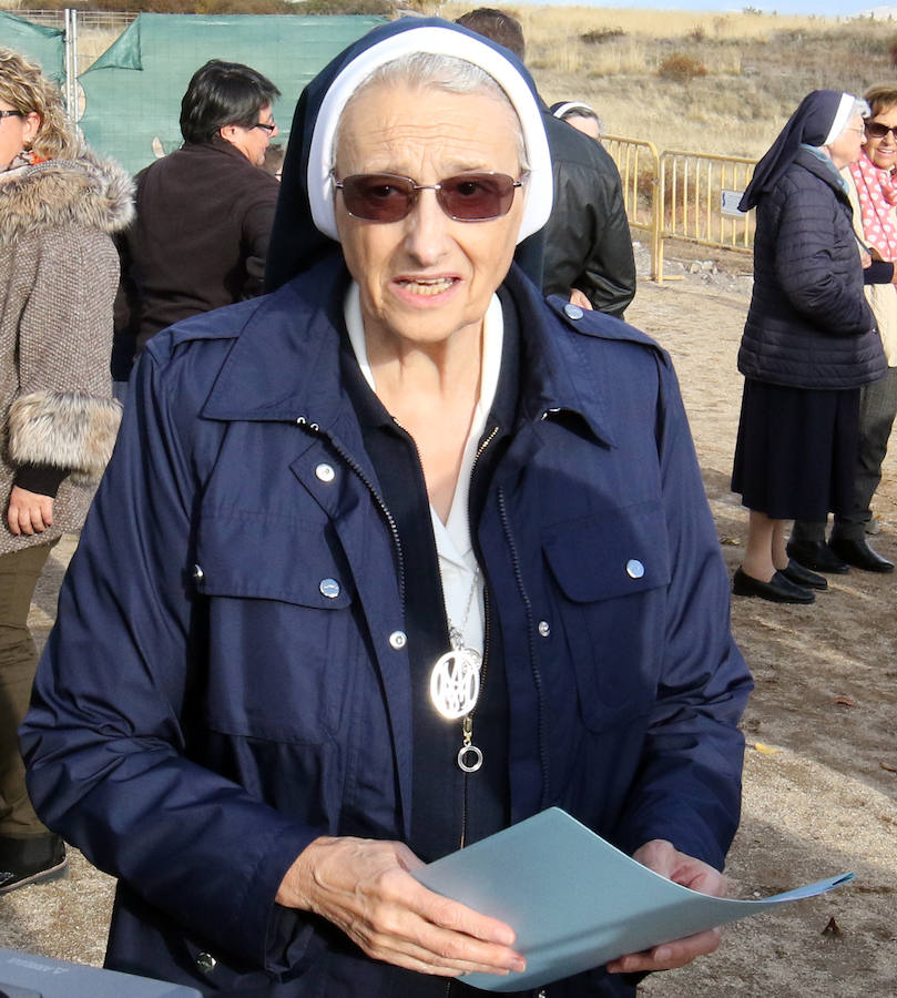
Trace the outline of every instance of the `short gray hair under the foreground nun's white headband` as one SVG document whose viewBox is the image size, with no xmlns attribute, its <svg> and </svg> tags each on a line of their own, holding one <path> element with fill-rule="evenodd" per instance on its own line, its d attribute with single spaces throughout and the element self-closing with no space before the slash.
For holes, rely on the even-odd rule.
<svg viewBox="0 0 897 998">
<path fill-rule="evenodd" d="M 336 162 L 336 151 L 343 138 L 343 122 L 346 111 L 353 101 L 364 93 L 369 86 L 377 84 L 411 83 L 416 86 L 436 90 L 445 90 L 449 93 L 481 93 L 493 100 L 501 101 L 513 113 L 514 132 L 517 135 L 517 157 L 521 172 L 530 169 L 527 157 L 527 144 L 523 141 L 523 129 L 517 109 L 511 103 L 508 94 L 499 86 L 496 80 L 478 65 L 466 59 L 455 55 L 445 55 L 439 52 L 410 52 L 377 67 L 356 89 L 355 93 L 346 102 L 343 113 L 334 132 L 334 146 L 330 153 L 330 162 Z"/>
</svg>

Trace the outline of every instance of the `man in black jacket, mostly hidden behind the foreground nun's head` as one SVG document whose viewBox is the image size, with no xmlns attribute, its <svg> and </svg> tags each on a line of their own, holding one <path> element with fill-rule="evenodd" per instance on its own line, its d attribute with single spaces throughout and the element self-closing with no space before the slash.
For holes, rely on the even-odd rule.
<svg viewBox="0 0 897 998">
<path fill-rule="evenodd" d="M 501 10 L 480 7 L 458 23 L 491 39 L 523 61 L 520 22 Z M 547 295 L 622 318 L 635 296 L 635 258 L 623 204 L 620 172 L 599 143 L 554 118 L 542 104 L 554 171 L 554 207 L 544 230 L 520 249 L 519 262 Z"/>
</svg>

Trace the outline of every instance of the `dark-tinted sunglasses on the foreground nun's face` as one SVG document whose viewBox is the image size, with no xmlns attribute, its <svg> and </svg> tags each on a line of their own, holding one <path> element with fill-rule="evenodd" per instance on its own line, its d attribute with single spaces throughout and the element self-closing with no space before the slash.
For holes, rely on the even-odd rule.
<svg viewBox="0 0 897 998">
<path fill-rule="evenodd" d="M 416 184 L 394 173 L 358 173 L 334 186 L 343 192 L 346 211 L 365 222 L 400 222 L 417 204 L 420 191 L 436 191 L 442 211 L 456 222 L 490 222 L 507 215 L 513 203 L 516 181 L 504 173 L 459 173 L 438 184 Z"/>
</svg>

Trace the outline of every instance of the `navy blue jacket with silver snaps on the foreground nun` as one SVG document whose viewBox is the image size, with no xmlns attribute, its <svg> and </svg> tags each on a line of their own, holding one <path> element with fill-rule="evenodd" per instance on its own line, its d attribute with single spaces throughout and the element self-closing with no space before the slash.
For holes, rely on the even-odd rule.
<svg viewBox="0 0 897 998">
<path fill-rule="evenodd" d="M 151 340 L 22 727 L 38 812 L 121 878 L 108 965 L 210 994 L 383 994 L 385 965 L 274 903 L 315 837 L 409 827 L 401 552 L 340 381 L 347 279 L 332 259 Z M 477 537 L 512 819 L 557 804 L 721 867 L 751 683 L 674 374 L 506 287 L 521 397 Z"/>
</svg>

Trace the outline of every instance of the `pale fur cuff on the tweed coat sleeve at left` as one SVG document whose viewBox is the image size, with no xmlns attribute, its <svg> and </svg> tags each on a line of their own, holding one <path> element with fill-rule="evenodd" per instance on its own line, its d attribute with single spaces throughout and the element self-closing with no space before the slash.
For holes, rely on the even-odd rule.
<svg viewBox="0 0 897 998">
<path fill-rule="evenodd" d="M 17 398 L 7 417 L 13 466 L 50 465 L 81 482 L 96 481 L 112 455 L 121 421 L 114 398 L 74 391 L 32 391 Z"/>
</svg>

